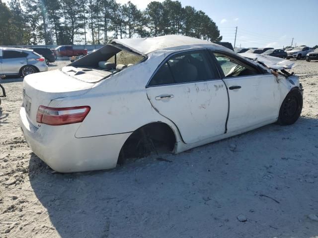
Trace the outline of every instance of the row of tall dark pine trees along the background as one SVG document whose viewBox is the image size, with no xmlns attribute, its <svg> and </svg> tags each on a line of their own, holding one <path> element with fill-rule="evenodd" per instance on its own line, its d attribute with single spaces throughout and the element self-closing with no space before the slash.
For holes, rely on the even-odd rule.
<svg viewBox="0 0 318 238">
<path fill-rule="evenodd" d="M 131 1 L 0 0 L 0 45 L 105 44 L 168 34 L 222 40 L 205 12 L 177 0 L 152 1 L 143 11 Z"/>
</svg>

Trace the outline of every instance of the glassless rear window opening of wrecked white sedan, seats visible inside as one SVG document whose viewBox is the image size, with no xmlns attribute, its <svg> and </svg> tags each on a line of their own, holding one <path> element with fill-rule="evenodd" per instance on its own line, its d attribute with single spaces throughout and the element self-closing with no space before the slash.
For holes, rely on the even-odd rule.
<svg viewBox="0 0 318 238">
<path fill-rule="evenodd" d="M 144 59 L 144 56 L 106 45 L 61 70 L 81 81 L 96 83 Z"/>
</svg>

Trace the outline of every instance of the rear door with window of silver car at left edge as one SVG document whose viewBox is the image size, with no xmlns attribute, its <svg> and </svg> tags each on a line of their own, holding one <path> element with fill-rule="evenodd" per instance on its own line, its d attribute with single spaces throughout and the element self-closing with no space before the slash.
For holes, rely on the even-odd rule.
<svg viewBox="0 0 318 238">
<path fill-rule="evenodd" d="M 21 51 L 2 51 L 2 71 L 3 74 L 18 74 L 21 67 L 26 64 L 28 54 Z"/>
</svg>

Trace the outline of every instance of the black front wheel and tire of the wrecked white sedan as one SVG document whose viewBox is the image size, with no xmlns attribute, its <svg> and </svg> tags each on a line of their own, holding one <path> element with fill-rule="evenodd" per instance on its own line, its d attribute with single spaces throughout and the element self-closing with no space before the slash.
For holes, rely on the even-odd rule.
<svg viewBox="0 0 318 238">
<path fill-rule="evenodd" d="M 299 89 L 290 91 L 284 99 L 278 116 L 278 124 L 291 125 L 299 119 L 303 109 L 303 96 Z"/>
</svg>

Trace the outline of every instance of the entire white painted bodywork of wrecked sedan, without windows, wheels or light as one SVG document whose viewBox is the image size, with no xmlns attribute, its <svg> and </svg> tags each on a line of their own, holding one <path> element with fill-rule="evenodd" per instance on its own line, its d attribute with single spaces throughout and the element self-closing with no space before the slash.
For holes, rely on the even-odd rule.
<svg viewBox="0 0 318 238">
<path fill-rule="evenodd" d="M 146 88 L 160 63 L 173 53 L 193 49 L 235 53 L 183 36 L 121 39 L 116 43 L 145 54 L 148 59 L 96 83 L 80 81 L 61 70 L 24 79 L 24 92 L 32 105 L 30 116 L 24 107 L 20 110 L 24 137 L 32 151 L 56 171 L 114 168 L 127 138 L 152 122 L 163 122 L 173 130 L 174 153 L 252 130 L 275 122 L 287 93 L 299 87 L 297 76 L 276 78 L 268 70 L 257 76 Z M 238 83 L 241 89 L 227 90 Z M 174 97 L 156 100 L 160 95 Z M 91 110 L 83 122 L 51 126 L 36 122 L 40 105 L 90 106 Z"/>
</svg>

